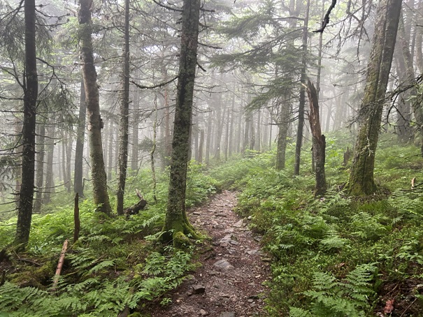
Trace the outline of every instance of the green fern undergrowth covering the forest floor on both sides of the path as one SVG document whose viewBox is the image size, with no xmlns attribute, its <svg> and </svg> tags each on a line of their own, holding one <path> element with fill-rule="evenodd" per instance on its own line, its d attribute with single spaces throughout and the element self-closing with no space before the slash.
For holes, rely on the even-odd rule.
<svg viewBox="0 0 423 317">
<path fill-rule="evenodd" d="M 382 135 L 375 170 L 379 191 L 373 196 L 343 193 L 349 172 L 343 152 L 352 136 L 338 133 L 327 135 L 323 197 L 313 193 L 310 157 L 302 158 L 302 176 L 292 176 L 292 144 L 286 170 L 273 168 L 273 151 L 251 152 L 209 170 L 192 163 L 187 205 L 222 189 L 239 191 L 237 212 L 251 219 L 250 228 L 262 235 L 272 258 L 269 316 L 374 316 L 389 310 L 392 300 L 398 316 L 420 316 L 423 160 L 419 147 L 394 143 L 394 135 Z M 411 190 L 413 177 L 417 186 Z M 130 316 L 149 316 L 152 305 L 171 304 L 166 293 L 199 265 L 196 246 L 180 251 L 157 243 L 166 172 L 158 179 L 155 204 L 150 179 L 142 170 L 128 182 L 127 205 L 138 199 L 135 189 L 149 202 L 140 214 L 109 218 L 94 212 L 89 198 L 80 204 L 80 239 L 66 253 L 57 286 L 52 278 L 62 244 L 73 235 L 73 198 L 58 193 L 43 214 L 34 215 L 27 253 L 4 249 L 13 241 L 16 219 L 2 214 L 0 270 L 6 279 L 0 316 L 116 316 L 125 309 Z"/>
</svg>

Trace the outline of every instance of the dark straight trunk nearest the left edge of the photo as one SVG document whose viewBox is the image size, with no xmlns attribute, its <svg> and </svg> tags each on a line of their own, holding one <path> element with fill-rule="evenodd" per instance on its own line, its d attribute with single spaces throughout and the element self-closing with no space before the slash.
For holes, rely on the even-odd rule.
<svg viewBox="0 0 423 317">
<path fill-rule="evenodd" d="M 35 129 L 38 75 L 36 65 L 35 0 L 24 0 L 25 20 L 25 87 L 24 126 L 22 128 L 22 186 L 19 193 L 14 244 L 25 249 L 31 228 L 35 177 Z"/>
</svg>

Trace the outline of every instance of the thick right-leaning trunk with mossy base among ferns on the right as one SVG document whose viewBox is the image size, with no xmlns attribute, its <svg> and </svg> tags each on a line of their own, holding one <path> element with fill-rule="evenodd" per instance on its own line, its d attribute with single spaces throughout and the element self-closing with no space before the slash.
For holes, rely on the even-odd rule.
<svg viewBox="0 0 423 317">
<path fill-rule="evenodd" d="M 351 195 L 369 195 L 376 191 L 373 177 L 375 151 L 400 12 L 401 0 L 382 0 L 379 4 L 373 47 L 367 66 L 366 88 L 359 112 L 359 134 L 346 186 Z"/>
</svg>

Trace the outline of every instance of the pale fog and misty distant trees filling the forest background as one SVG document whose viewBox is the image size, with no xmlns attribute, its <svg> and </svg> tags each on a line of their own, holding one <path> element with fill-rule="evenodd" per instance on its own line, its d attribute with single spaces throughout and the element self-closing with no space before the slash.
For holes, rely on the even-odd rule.
<svg viewBox="0 0 423 317">
<path fill-rule="evenodd" d="M 361 176 L 352 174 L 347 188 L 352 194 L 375 191 L 373 165 L 359 163 L 359 156 L 374 156 L 378 134 L 421 142 L 423 8 L 420 1 L 406 1 L 402 8 L 400 2 L 396 13 L 386 0 L 201 2 L 188 158 L 216 165 L 276 148 L 275 167 L 301 175 L 299 163 L 311 155 L 313 138 L 310 79 L 322 133 L 348 131 L 361 138 L 352 168 Z M 124 186 L 128 177 L 171 163 L 175 104 L 178 89 L 186 88 L 178 87 L 182 1 L 127 1 L 127 10 L 125 1 L 80 1 L 91 14 L 89 31 L 75 1 L 36 1 L 33 13 L 29 3 L 0 2 L 0 185 L 7 204 L 2 217 L 13 215 L 13 209 L 40 212 L 60 191 L 90 195 L 93 168 L 107 177 L 100 181 L 103 195 L 120 193 L 121 214 L 124 191 L 134 191 Z M 35 22 L 29 24 L 31 14 Z M 325 15 L 329 23 L 322 24 Z M 35 47 L 30 49 L 25 45 L 31 34 Z M 98 89 L 99 115 L 85 104 L 90 100 L 86 77 L 85 89 L 81 84 L 89 46 L 84 38 L 92 40 L 96 74 L 91 73 L 91 84 Z M 36 61 L 33 88 L 29 56 L 33 66 Z M 377 88 L 384 76 L 386 93 Z M 371 87 L 376 87 L 372 98 L 366 96 Z M 30 93 L 36 103 L 28 108 L 35 98 Z M 101 132 L 100 144 L 99 135 L 90 136 L 94 130 Z M 93 152 L 94 146 L 102 153 Z M 287 147 L 296 147 L 294 167 L 285 164 Z M 354 187 L 369 177 L 369 184 Z M 94 196 L 95 189 L 94 184 Z M 96 203 L 104 207 L 105 199 Z"/>
</svg>

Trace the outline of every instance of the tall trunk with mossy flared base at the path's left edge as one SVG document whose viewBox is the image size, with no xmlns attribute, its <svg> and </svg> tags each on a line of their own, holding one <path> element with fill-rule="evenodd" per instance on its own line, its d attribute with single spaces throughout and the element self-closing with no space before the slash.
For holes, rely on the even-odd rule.
<svg viewBox="0 0 423 317">
<path fill-rule="evenodd" d="M 199 36 L 200 0 L 185 0 L 182 7 L 182 31 L 179 59 L 178 93 L 173 124 L 172 160 L 169 177 L 169 196 L 164 223 L 164 242 L 173 240 L 174 246 L 188 242 L 186 235 L 198 237 L 187 219 L 185 192 L 189 153 L 189 127 L 196 71 L 196 52 Z"/>
</svg>

